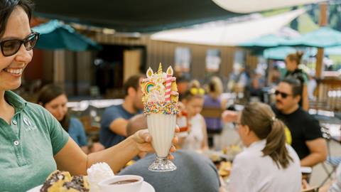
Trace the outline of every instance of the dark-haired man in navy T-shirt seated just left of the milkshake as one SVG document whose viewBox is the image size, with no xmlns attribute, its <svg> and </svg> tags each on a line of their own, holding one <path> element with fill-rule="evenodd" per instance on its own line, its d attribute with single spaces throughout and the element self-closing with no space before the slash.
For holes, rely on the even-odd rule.
<svg viewBox="0 0 341 192">
<path fill-rule="evenodd" d="M 143 75 L 133 75 L 124 82 L 124 102 L 108 107 L 102 114 L 99 142 L 109 148 L 126 138 L 126 124 L 144 109 L 140 81 Z"/>
</svg>

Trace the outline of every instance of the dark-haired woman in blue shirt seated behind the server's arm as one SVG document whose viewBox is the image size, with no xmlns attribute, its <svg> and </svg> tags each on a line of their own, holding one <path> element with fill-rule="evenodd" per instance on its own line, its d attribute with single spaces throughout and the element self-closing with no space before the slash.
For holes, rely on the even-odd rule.
<svg viewBox="0 0 341 192">
<path fill-rule="evenodd" d="M 86 154 L 89 153 L 83 124 L 80 120 L 70 117 L 67 112 L 67 96 L 62 87 L 53 84 L 45 85 L 38 94 L 37 103 L 45 107 L 60 122 L 63 129 Z M 104 149 L 101 144 L 95 145 L 96 151 Z"/>
</svg>

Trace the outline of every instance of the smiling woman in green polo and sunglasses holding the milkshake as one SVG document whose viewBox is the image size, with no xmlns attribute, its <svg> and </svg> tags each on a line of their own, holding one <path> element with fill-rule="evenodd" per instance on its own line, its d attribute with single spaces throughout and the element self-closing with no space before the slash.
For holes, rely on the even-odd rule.
<svg viewBox="0 0 341 192">
<path fill-rule="evenodd" d="M 140 130 L 116 146 L 87 155 L 48 111 L 11 92 L 21 85 L 38 40 L 29 25 L 31 7 L 28 0 L 0 1 L 0 191 L 27 191 L 57 168 L 85 175 L 100 161 L 117 172 L 139 152 L 153 151 L 148 131 Z"/>
</svg>

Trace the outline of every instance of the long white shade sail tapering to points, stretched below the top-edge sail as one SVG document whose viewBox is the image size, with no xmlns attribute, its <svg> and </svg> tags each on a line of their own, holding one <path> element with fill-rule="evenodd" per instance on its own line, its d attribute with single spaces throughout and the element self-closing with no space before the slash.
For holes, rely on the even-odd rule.
<svg viewBox="0 0 341 192">
<path fill-rule="evenodd" d="M 276 16 L 239 23 L 161 31 L 154 33 L 151 39 L 208 46 L 237 46 L 251 39 L 276 33 L 304 12 L 304 9 L 297 9 Z"/>
</svg>

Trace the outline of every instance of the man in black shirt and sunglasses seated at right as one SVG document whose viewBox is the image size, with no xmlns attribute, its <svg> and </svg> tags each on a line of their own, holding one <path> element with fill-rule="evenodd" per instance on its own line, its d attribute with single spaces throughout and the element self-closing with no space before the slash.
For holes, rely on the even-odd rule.
<svg viewBox="0 0 341 192">
<path fill-rule="evenodd" d="M 272 107 L 276 117 L 281 119 L 291 132 L 293 149 L 301 159 L 301 166 L 315 166 L 327 158 L 327 145 L 322 137 L 317 119 L 300 106 L 301 82 L 284 79 L 279 82 Z"/>
</svg>

